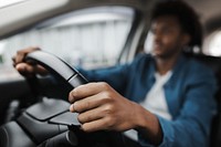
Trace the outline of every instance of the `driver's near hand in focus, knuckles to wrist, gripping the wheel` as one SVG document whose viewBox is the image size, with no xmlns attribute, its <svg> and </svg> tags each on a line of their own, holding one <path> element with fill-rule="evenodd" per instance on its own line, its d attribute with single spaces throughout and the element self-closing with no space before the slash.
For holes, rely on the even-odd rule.
<svg viewBox="0 0 221 147">
<path fill-rule="evenodd" d="M 71 112 L 80 113 L 85 132 L 135 128 L 136 103 L 119 95 L 106 83 L 90 83 L 74 88 L 69 96 Z"/>
</svg>

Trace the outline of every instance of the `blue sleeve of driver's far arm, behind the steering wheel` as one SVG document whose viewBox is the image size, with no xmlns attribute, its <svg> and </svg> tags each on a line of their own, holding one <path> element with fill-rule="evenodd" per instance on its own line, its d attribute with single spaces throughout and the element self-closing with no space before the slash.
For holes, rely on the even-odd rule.
<svg viewBox="0 0 221 147">
<path fill-rule="evenodd" d="M 128 85 L 127 82 L 137 72 L 137 64 L 144 56 L 145 54 L 138 54 L 130 63 L 106 69 L 84 70 L 78 67 L 77 70 L 90 82 L 107 82 L 113 88 L 123 94 Z"/>
</svg>

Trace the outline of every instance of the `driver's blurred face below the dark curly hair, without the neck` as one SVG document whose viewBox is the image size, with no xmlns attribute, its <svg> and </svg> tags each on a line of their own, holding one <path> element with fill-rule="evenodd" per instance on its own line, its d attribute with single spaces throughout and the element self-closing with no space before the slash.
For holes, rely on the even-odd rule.
<svg viewBox="0 0 221 147">
<path fill-rule="evenodd" d="M 168 59 L 178 52 L 187 44 L 185 42 L 186 33 L 176 17 L 164 15 L 154 20 L 150 28 L 152 34 L 152 54 L 156 57 Z"/>
</svg>

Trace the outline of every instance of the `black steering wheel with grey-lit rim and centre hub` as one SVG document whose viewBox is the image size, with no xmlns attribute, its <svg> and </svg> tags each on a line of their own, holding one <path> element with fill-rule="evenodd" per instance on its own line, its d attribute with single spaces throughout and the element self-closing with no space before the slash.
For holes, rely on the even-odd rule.
<svg viewBox="0 0 221 147">
<path fill-rule="evenodd" d="M 34 51 L 27 54 L 24 61 L 42 65 L 69 87 L 75 88 L 87 83 L 77 70 L 53 54 Z M 40 144 L 50 146 L 55 144 L 54 141 L 57 146 L 60 146 L 57 141 L 76 145 L 75 133 L 69 130 L 69 126 L 77 127 L 80 123 L 77 114 L 70 113 L 69 106 L 67 102 L 55 98 L 46 98 L 31 105 L 15 120 L 0 127 L 0 136 L 2 136 L 0 146 L 32 147 Z"/>
</svg>

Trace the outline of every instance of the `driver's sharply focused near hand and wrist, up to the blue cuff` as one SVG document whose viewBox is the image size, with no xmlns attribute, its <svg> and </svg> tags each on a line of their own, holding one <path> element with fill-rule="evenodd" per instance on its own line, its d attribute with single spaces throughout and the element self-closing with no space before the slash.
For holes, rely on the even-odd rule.
<svg viewBox="0 0 221 147">
<path fill-rule="evenodd" d="M 78 113 L 84 132 L 136 129 L 159 145 L 162 132 L 158 118 L 139 104 L 123 97 L 107 83 L 88 83 L 70 92 L 71 112 Z"/>
</svg>

